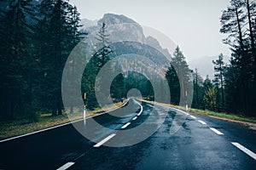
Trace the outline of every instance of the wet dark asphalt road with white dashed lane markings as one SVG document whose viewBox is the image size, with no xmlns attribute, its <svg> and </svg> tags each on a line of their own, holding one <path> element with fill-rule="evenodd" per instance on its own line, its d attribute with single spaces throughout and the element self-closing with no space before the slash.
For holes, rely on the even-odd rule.
<svg viewBox="0 0 256 170">
<path fill-rule="evenodd" d="M 72 124 L 68 124 L 0 142 L 0 169 L 66 169 L 67 167 L 69 169 L 254 169 L 256 167 L 255 131 L 239 123 L 207 116 L 187 115 L 182 111 L 163 106 L 142 103 L 142 107 L 130 99 L 128 105 L 120 108 L 124 114 L 122 117 L 103 114 L 87 119 L 86 127 L 90 126 L 90 120 L 102 125 L 102 128 L 85 128 L 84 133 L 90 133 L 92 141 L 85 139 Z M 157 109 L 157 113 L 152 112 L 153 108 Z M 159 127 L 157 122 L 160 121 L 162 111 L 168 111 L 168 114 Z M 181 119 L 185 117 L 184 122 L 179 122 L 177 115 L 183 115 Z M 148 119 L 150 122 L 147 122 Z M 179 123 L 181 127 L 177 133 L 170 134 L 172 126 Z M 131 146 L 105 146 L 125 145 L 131 143 L 130 139 L 139 139 L 144 133 L 148 133 L 147 128 L 132 133 L 130 139 L 125 138 L 123 132 L 136 129 L 135 127 L 140 127 L 142 124 L 150 124 L 150 127 L 156 128 L 156 132 L 143 142 Z M 75 122 L 74 125 L 79 129 L 84 128 L 83 121 Z"/>
</svg>

